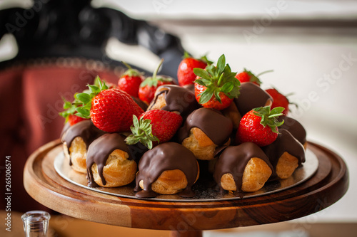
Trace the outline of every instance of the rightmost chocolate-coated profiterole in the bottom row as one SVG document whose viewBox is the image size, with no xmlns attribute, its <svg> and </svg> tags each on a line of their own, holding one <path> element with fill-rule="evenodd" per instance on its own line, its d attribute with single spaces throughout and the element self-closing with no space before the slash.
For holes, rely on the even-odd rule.
<svg viewBox="0 0 357 237">
<path fill-rule="evenodd" d="M 262 147 L 274 168 L 271 179 L 287 179 L 305 162 L 303 145 L 288 130 L 279 129 L 279 132 L 272 144 Z"/>
</svg>

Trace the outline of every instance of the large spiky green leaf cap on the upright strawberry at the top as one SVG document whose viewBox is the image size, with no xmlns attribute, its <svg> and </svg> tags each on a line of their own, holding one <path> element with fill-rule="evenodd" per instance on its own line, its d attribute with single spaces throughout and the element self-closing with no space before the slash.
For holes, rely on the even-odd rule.
<svg viewBox="0 0 357 237">
<path fill-rule="evenodd" d="M 231 71 L 231 67 L 226 64 L 224 54 L 218 58 L 217 65 L 207 65 L 205 69 L 193 68 L 193 73 L 198 76 L 194 82 L 206 87 L 201 95 L 200 104 L 208 102 L 214 95 L 218 102 L 221 102 L 219 93 L 224 93 L 228 98 L 238 98 L 239 86 L 241 83 L 235 78 L 236 72 Z"/>
</svg>

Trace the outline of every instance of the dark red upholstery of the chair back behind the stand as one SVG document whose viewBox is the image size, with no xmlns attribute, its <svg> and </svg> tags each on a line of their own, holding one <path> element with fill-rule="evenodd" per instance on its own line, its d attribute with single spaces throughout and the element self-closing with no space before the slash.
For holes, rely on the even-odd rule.
<svg viewBox="0 0 357 237">
<path fill-rule="evenodd" d="M 1 209 L 6 207 L 6 156 L 11 156 L 11 210 L 46 209 L 24 190 L 24 164 L 37 148 L 59 138 L 64 126 L 64 118 L 59 116 L 62 97 L 72 100 L 74 93 L 93 83 L 96 75 L 111 83 L 118 80 L 111 70 L 85 67 L 23 65 L 0 71 Z"/>
</svg>

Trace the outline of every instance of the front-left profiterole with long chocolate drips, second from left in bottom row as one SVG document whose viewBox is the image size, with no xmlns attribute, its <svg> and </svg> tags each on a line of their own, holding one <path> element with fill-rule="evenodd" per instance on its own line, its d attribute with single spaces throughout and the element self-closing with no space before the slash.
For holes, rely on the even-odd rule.
<svg viewBox="0 0 357 237">
<path fill-rule="evenodd" d="M 107 133 L 89 145 L 88 186 L 116 187 L 134 181 L 137 164 L 124 139 L 119 133 Z"/>
</svg>

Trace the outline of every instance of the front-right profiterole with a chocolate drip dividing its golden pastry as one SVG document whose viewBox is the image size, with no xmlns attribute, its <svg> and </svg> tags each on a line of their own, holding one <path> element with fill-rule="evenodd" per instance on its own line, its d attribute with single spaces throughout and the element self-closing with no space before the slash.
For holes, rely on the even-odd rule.
<svg viewBox="0 0 357 237">
<path fill-rule="evenodd" d="M 228 191 L 258 191 L 273 172 L 273 167 L 261 147 L 253 142 L 226 147 L 214 167 L 213 178 L 221 189 Z"/>
</svg>

